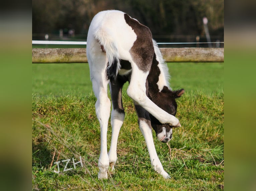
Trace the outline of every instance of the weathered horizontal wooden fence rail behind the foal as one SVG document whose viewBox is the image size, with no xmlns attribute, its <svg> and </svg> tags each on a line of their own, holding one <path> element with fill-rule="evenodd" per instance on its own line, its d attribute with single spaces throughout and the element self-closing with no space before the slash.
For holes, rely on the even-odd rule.
<svg viewBox="0 0 256 191">
<path fill-rule="evenodd" d="M 224 48 L 160 48 L 165 62 L 224 62 Z M 33 48 L 32 63 L 87 63 L 86 48 Z"/>
</svg>

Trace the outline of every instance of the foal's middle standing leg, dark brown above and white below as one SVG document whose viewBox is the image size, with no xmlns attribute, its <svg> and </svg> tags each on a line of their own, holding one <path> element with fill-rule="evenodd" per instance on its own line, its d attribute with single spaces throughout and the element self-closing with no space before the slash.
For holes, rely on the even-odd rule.
<svg viewBox="0 0 256 191">
<path fill-rule="evenodd" d="M 117 161 L 117 140 L 120 128 L 124 121 L 124 108 L 122 103 L 122 87 L 124 82 L 115 81 L 110 83 L 111 97 L 112 97 L 112 111 L 111 111 L 111 126 L 112 126 L 112 138 L 109 149 L 109 163 L 112 170 L 115 169 Z"/>
</svg>

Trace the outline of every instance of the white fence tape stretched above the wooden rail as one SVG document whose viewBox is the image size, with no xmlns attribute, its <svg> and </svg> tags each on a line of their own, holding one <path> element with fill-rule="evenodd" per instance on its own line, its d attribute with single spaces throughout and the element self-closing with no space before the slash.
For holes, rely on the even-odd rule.
<svg viewBox="0 0 256 191">
<path fill-rule="evenodd" d="M 211 42 L 212 44 L 224 42 Z M 32 44 L 38 45 L 87 45 L 83 41 L 32 41 Z M 208 42 L 195 42 L 195 43 L 157 43 L 158 45 L 171 45 L 171 44 L 209 44 Z"/>
</svg>

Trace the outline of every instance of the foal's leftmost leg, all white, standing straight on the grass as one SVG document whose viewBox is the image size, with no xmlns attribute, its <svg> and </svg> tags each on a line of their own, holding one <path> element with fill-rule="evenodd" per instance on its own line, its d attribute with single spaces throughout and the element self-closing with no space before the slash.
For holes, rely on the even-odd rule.
<svg viewBox="0 0 256 191">
<path fill-rule="evenodd" d="M 96 45 L 95 45 L 96 44 Z M 98 162 L 98 178 L 108 178 L 109 158 L 107 151 L 107 129 L 110 116 L 111 102 L 107 95 L 109 81 L 106 80 L 105 71 L 107 67 L 106 54 L 100 49 L 97 42 L 90 46 L 89 66 L 93 91 L 97 98 L 95 109 L 101 128 L 101 153 Z"/>
</svg>

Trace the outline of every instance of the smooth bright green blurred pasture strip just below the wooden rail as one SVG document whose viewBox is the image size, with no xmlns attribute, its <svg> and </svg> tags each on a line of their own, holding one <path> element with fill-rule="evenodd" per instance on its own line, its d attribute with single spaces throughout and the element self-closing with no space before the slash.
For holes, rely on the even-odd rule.
<svg viewBox="0 0 256 191">
<path fill-rule="evenodd" d="M 223 92 L 224 65 L 220 63 L 168 63 L 172 89 L 187 94 Z M 32 94 L 87 95 L 92 92 L 89 65 L 32 64 Z"/>
</svg>

